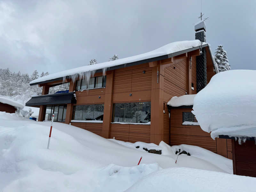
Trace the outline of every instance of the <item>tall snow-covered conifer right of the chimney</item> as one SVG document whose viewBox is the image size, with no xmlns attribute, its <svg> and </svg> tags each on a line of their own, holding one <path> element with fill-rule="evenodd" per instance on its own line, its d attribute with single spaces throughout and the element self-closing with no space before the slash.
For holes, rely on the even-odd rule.
<svg viewBox="0 0 256 192">
<path fill-rule="evenodd" d="M 227 52 L 223 49 L 223 46 L 221 44 L 218 45 L 218 48 L 216 49 L 215 61 L 218 64 L 220 72 L 230 70 Z"/>
</svg>

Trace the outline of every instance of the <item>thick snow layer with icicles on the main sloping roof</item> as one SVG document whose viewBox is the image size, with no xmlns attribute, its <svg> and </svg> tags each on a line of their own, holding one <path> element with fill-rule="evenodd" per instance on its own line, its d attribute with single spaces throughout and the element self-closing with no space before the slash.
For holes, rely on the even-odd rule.
<svg viewBox="0 0 256 192">
<path fill-rule="evenodd" d="M 208 44 L 203 43 L 203 45 L 208 45 Z M 118 60 L 114 60 L 114 61 L 98 63 L 98 64 L 94 64 L 94 65 L 86 65 L 83 67 L 78 67 L 78 68 L 73 68 L 73 69 L 53 73 L 48 76 L 44 76 L 44 77 L 35 79 L 35 80 L 31 81 L 29 84 L 36 84 L 36 83 L 38 84 L 40 82 L 49 81 L 49 80 L 53 80 L 53 79 L 57 79 L 57 78 L 61 78 L 61 77 L 66 78 L 66 76 L 72 76 L 72 75 L 73 76 L 76 75 L 76 77 L 78 75 L 84 76 L 83 73 L 85 73 L 85 72 L 90 72 L 90 71 L 95 72 L 96 70 L 99 70 L 99 69 L 102 69 L 103 73 L 105 74 L 106 69 L 110 68 L 110 67 L 128 64 L 128 63 L 132 63 L 132 62 L 136 62 L 136 61 L 147 60 L 147 59 L 151 59 L 151 58 L 155 58 L 155 57 L 159 57 L 159 56 L 169 55 L 169 54 L 173 54 L 176 52 L 184 51 L 184 50 L 191 49 L 194 47 L 199 47 L 199 46 L 201 46 L 201 42 L 199 40 L 173 42 L 173 43 L 164 45 L 163 47 L 160 47 L 154 51 L 150 51 L 150 52 L 143 53 L 140 55 L 135 55 L 132 57 L 127 57 L 127 58 L 118 59 Z"/>
</svg>

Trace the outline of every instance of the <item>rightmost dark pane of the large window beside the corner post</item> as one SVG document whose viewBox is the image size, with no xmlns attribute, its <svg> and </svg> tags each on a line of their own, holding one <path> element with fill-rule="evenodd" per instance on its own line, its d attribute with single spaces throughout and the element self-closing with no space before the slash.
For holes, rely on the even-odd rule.
<svg viewBox="0 0 256 192">
<path fill-rule="evenodd" d="M 140 102 L 137 123 L 148 123 L 150 121 L 151 102 Z"/>
</svg>

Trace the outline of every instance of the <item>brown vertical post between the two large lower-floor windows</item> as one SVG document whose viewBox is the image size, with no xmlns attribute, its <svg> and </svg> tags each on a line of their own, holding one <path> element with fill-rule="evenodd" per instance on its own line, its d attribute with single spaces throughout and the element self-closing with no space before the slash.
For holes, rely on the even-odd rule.
<svg viewBox="0 0 256 192">
<path fill-rule="evenodd" d="M 110 123 L 113 111 L 113 82 L 114 82 L 114 70 L 107 71 L 105 101 L 104 101 L 104 116 L 102 124 L 102 137 L 109 138 L 110 136 Z"/>
</svg>

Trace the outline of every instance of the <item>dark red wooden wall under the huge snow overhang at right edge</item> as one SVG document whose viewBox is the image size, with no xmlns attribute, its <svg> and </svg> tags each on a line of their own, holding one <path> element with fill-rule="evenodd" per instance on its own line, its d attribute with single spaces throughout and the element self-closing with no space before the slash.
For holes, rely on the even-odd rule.
<svg viewBox="0 0 256 192">
<path fill-rule="evenodd" d="M 256 177 L 256 146 L 254 141 L 246 141 L 242 145 L 232 140 L 233 171 L 236 175 Z"/>
</svg>

